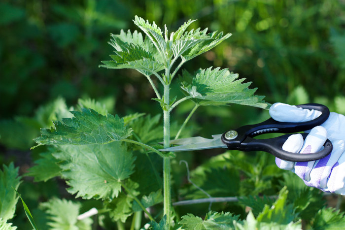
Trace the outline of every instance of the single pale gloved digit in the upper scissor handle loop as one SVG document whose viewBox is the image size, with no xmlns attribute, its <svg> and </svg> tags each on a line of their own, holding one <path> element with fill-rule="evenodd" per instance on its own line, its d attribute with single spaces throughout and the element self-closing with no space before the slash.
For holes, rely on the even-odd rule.
<svg viewBox="0 0 345 230">
<path fill-rule="evenodd" d="M 270 107 L 270 116 L 279 122 L 306 122 L 321 115 L 318 110 L 309 110 L 284 103 L 274 103 Z"/>
</svg>

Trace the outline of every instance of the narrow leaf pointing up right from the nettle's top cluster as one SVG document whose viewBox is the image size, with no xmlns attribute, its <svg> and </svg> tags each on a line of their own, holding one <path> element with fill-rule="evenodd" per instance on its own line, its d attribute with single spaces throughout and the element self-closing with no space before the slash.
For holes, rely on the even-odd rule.
<svg viewBox="0 0 345 230">
<path fill-rule="evenodd" d="M 199 29 L 198 29 L 199 30 Z M 205 29 L 202 32 L 199 32 L 196 30 L 196 32 L 199 33 L 199 35 L 206 35 L 207 38 L 203 38 L 203 41 L 198 43 L 197 45 L 194 45 L 191 49 L 188 49 L 182 54 L 182 60 L 188 61 L 191 60 L 192 58 L 195 58 L 198 55 L 201 55 L 208 50 L 212 49 L 225 39 L 229 38 L 232 34 L 227 33 L 223 35 L 223 32 L 213 32 L 213 33 L 207 33 L 207 29 Z"/>
</svg>

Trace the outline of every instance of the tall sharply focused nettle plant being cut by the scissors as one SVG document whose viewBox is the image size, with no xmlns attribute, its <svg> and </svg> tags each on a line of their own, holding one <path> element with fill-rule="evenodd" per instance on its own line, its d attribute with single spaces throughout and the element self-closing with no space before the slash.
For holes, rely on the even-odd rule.
<svg viewBox="0 0 345 230">
<path fill-rule="evenodd" d="M 171 201 L 171 159 L 174 154 L 162 153 L 157 149 L 169 147 L 170 138 L 179 137 L 190 116 L 199 106 L 229 103 L 261 108 L 267 106 L 262 101 L 262 96 L 254 95 L 256 89 L 248 89 L 250 82 L 243 83 L 244 78 L 238 79 L 238 74 L 219 67 L 200 69 L 193 74 L 183 71 L 181 90 L 185 97 L 177 99 L 170 94 L 171 83 L 184 63 L 231 36 L 230 33 L 223 32 L 207 33 L 207 29 L 200 28 L 186 31 L 194 21 L 189 20 L 169 35 L 166 26 L 163 32 L 154 22 L 150 24 L 136 16 L 134 23 L 146 36 L 137 31 L 111 34 L 109 44 L 114 48 L 114 54 L 110 55 L 111 61 L 103 61 L 101 65 L 105 68 L 136 69 L 147 78 L 156 95 L 154 100 L 162 107 L 164 146 L 148 145 L 147 141 L 145 143 L 140 138 L 135 127 L 131 127 L 131 121 L 142 114 L 120 119 L 118 115 L 104 116 L 86 108 L 71 111 L 72 118 L 54 122 L 54 127 L 42 129 L 41 136 L 35 138 L 38 146 L 54 145 L 58 149 L 53 153 L 53 157 L 59 161 L 55 168 L 56 172 L 61 172 L 61 176 L 66 179 L 69 193 L 84 199 L 104 200 L 104 205 L 114 220 L 124 222 L 135 211 L 143 210 L 151 221 L 155 221 L 146 208 L 162 201 L 161 190 L 141 193 L 138 181 L 147 181 L 147 175 L 136 174 L 135 179 L 131 177 L 136 170 L 133 151 L 137 150 L 137 146 L 145 150 L 143 153 L 146 155 L 158 154 L 162 158 L 162 216 L 169 228 L 174 221 Z M 163 92 L 159 92 L 152 78 L 162 84 Z M 195 107 L 172 136 L 170 114 L 177 105 L 188 99 L 194 101 Z M 147 121 L 142 123 L 143 126 L 145 122 Z M 50 173 L 53 173 L 53 170 Z M 157 174 L 156 172 L 158 178 Z M 147 189 L 144 192 L 147 192 Z"/>
</svg>

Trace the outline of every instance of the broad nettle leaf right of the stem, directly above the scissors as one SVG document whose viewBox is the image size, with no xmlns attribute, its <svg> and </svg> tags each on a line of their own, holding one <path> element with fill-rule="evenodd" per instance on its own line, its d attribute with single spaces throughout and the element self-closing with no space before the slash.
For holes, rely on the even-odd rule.
<svg viewBox="0 0 345 230">
<path fill-rule="evenodd" d="M 211 67 L 197 71 L 192 81 L 188 72 L 183 72 L 181 88 L 200 105 L 227 105 L 229 103 L 265 108 L 263 96 L 254 96 L 256 89 L 248 89 L 251 82 L 243 83 L 245 78 L 228 69 Z M 189 84 L 187 82 L 190 82 Z"/>
</svg>

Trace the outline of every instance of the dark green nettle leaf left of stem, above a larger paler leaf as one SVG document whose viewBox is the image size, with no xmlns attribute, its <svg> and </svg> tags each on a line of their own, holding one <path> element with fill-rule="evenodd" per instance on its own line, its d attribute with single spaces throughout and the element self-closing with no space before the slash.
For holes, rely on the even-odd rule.
<svg viewBox="0 0 345 230">
<path fill-rule="evenodd" d="M 81 112 L 70 112 L 74 115 L 73 118 L 55 121 L 54 127 L 41 129 L 41 136 L 34 139 L 37 146 L 107 144 L 124 139 L 132 133 L 132 129 L 127 128 L 118 115 L 103 116 L 93 109 L 85 108 Z"/>
</svg>

